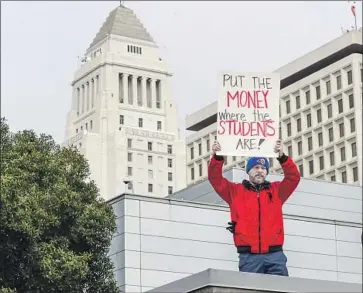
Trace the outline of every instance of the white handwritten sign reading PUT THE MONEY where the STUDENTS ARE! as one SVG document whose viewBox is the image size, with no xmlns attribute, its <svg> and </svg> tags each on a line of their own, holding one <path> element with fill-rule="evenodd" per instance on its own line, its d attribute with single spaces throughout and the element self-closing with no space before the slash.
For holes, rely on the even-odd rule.
<svg viewBox="0 0 363 293">
<path fill-rule="evenodd" d="M 219 82 L 218 154 L 277 157 L 280 75 L 224 72 Z"/>
</svg>

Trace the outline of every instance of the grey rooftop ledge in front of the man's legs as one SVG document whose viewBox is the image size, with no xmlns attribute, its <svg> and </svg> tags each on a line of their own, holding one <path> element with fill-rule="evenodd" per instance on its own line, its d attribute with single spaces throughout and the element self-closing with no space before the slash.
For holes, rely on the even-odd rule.
<svg viewBox="0 0 363 293">
<path fill-rule="evenodd" d="M 147 292 L 362 292 L 362 284 L 208 269 Z"/>
</svg>

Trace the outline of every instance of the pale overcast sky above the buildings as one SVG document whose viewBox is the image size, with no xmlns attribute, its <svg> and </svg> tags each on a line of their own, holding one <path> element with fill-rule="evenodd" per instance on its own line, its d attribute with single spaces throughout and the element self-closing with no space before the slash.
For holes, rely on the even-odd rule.
<svg viewBox="0 0 363 293">
<path fill-rule="evenodd" d="M 359 2 L 359 3 L 358 3 Z M 12 130 L 64 139 L 70 83 L 119 1 L 1 1 L 1 116 Z M 347 1 L 125 1 L 160 47 L 173 73 L 184 119 L 217 100 L 223 70 L 273 71 L 354 24 Z M 357 1 L 358 24 L 362 6 Z"/>
</svg>

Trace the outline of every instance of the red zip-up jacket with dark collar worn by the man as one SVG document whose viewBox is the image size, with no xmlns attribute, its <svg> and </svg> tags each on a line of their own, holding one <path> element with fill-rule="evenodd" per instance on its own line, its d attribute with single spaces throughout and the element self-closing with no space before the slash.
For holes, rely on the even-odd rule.
<svg viewBox="0 0 363 293">
<path fill-rule="evenodd" d="M 300 182 L 300 173 L 286 155 L 278 159 L 285 178 L 255 188 L 248 180 L 232 183 L 222 176 L 223 157 L 213 156 L 208 179 L 217 194 L 228 203 L 235 223 L 233 238 L 238 252 L 268 253 L 282 250 L 284 224 L 282 205 Z"/>
</svg>

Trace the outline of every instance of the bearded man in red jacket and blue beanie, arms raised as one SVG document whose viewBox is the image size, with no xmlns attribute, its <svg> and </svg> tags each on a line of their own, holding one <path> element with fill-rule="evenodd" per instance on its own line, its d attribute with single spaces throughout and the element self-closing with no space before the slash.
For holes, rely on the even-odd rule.
<svg viewBox="0 0 363 293">
<path fill-rule="evenodd" d="M 283 253 L 284 225 L 282 205 L 300 182 L 300 174 L 292 159 L 282 151 L 280 141 L 275 145 L 277 160 L 284 170 L 281 182 L 265 180 L 269 163 L 267 158 L 252 157 L 247 161 L 249 181 L 232 183 L 222 176 L 223 156 L 216 141 L 208 167 L 208 179 L 217 194 L 228 203 L 234 243 L 239 253 L 241 272 L 288 276 L 286 256 Z"/>
</svg>

